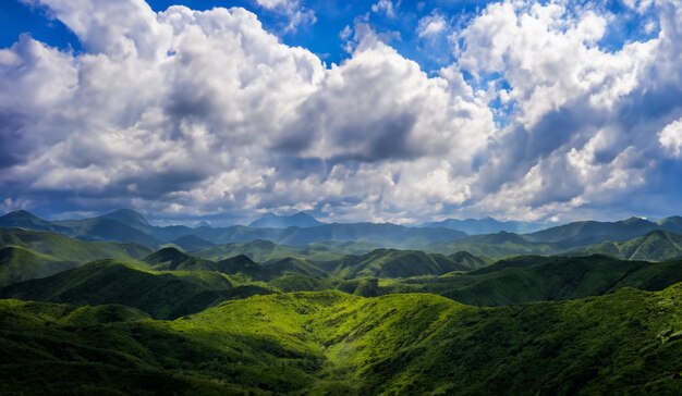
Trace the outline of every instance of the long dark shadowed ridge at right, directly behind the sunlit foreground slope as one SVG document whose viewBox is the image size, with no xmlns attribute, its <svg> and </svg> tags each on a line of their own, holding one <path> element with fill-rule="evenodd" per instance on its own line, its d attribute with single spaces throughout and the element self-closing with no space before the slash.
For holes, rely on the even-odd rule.
<svg viewBox="0 0 682 396">
<path fill-rule="evenodd" d="M 650 263 L 609 256 L 517 257 L 467 273 L 393 282 L 380 293 L 433 293 L 474 306 L 599 296 L 623 287 L 659 290 L 682 282 L 682 261 Z"/>
</svg>

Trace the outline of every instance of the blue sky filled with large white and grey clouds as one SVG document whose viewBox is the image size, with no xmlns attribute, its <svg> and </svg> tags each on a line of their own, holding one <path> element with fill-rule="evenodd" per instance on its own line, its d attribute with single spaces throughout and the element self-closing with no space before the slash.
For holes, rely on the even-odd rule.
<svg viewBox="0 0 682 396">
<path fill-rule="evenodd" d="M 5 0 L 0 212 L 682 214 L 678 0 Z"/>
</svg>

